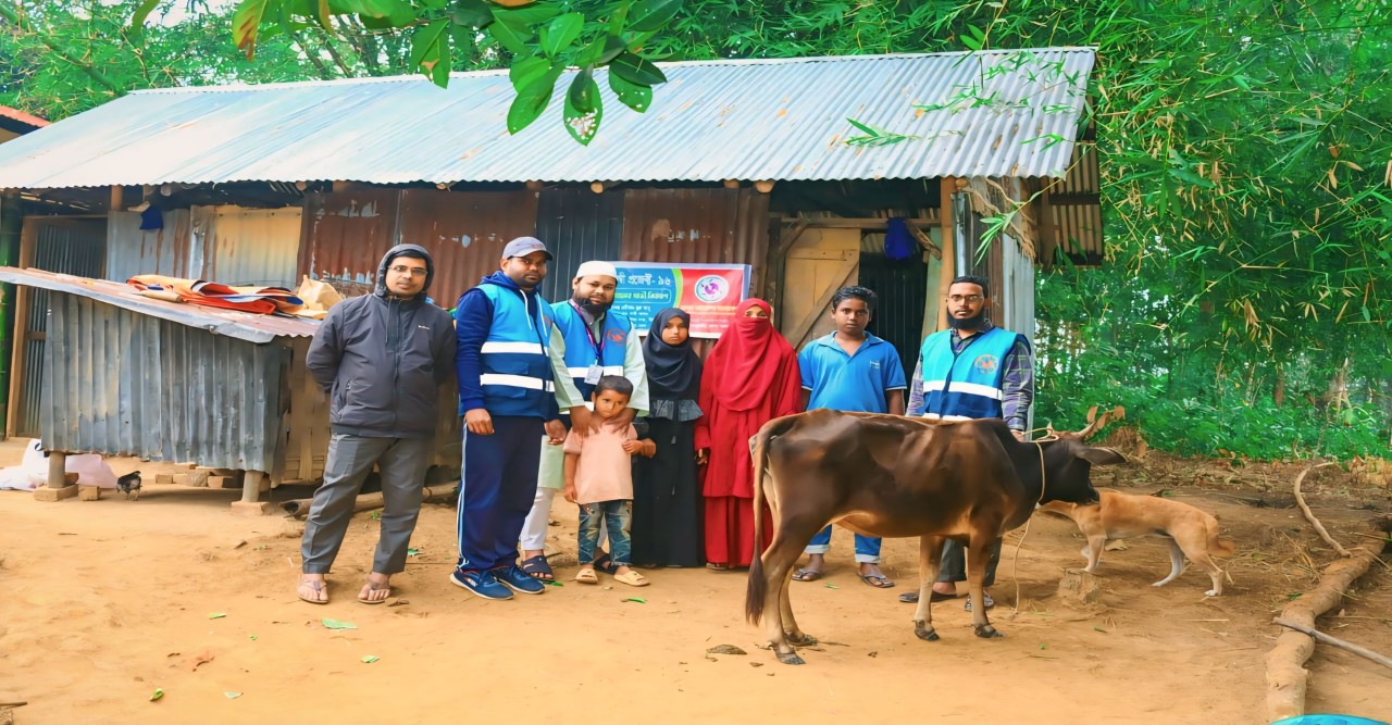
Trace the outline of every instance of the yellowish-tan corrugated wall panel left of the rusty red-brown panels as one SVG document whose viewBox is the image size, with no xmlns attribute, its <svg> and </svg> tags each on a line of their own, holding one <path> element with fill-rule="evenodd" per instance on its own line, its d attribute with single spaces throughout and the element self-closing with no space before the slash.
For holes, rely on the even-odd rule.
<svg viewBox="0 0 1392 725">
<path fill-rule="evenodd" d="M 195 246 L 210 252 L 200 278 L 231 285 L 298 287 L 298 206 L 195 206 L 192 217 Z"/>
</svg>

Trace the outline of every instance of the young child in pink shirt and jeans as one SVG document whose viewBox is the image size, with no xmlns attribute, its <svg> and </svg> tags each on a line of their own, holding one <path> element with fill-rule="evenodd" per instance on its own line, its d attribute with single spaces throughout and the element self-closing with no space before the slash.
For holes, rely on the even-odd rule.
<svg viewBox="0 0 1392 725">
<path fill-rule="evenodd" d="M 580 571 L 575 580 L 585 584 L 600 580 L 594 575 L 594 548 L 600 541 L 600 522 L 604 522 L 614 579 L 629 586 L 647 586 L 647 579 L 629 566 L 632 544 L 628 532 L 633 519 L 631 456 L 642 454 L 651 458 L 657 447 L 650 440 L 639 441 L 631 423 L 622 427 L 615 424 L 632 394 L 633 384 L 628 379 L 601 377 L 590 395 L 594 415 L 603 420 L 600 430 L 585 433 L 572 429 L 565 437 L 565 500 L 580 505 Z"/>
</svg>

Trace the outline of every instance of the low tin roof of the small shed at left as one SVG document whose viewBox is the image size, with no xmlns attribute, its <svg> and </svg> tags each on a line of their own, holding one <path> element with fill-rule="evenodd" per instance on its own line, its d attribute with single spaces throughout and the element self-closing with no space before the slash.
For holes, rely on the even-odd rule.
<svg viewBox="0 0 1392 725">
<path fill-rule="evenodd" d="M 90 280 L 72 274 L 54 274 L 42 270 L 21 270 L 17 267 L 0 267 L 0 281 L 38 287 L 40 289 L 56 289 L 92 298 L 107 305 L 116 305 L 128 310 L 139 312 L 150 317 L 170 320 L 174 323 L 207 330 L 217 335 L 234 337 L 248 342 L 270 342 L 277 337 L 313 337 L 319 330 L 319 323 L 302 317 L 281 317 L 271 314 L 252 314 L 246 312 L 205 308 L 200 305 L 185 305 L 180 302 L 164 302 L 143 296 L 135 288 L 106 280 Z"/>
</svg>

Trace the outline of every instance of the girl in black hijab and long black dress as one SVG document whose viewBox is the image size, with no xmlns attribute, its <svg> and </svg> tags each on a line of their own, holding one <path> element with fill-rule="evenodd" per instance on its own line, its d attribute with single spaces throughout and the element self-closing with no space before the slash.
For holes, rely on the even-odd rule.
<svg viewBox="0 0 1392 725">
<path fill-rule="evenodd" d="M 643 437 L 657 455 L 636 459 L 633 476 L 633 561 L 647 566 L 702 566 L 703 498 L 696 476 L 695 420 L 700 358 L 690 345 L 690 314 L 670 308 L 653 319 L 643 340 L 649 412 Z"/>
</svg>

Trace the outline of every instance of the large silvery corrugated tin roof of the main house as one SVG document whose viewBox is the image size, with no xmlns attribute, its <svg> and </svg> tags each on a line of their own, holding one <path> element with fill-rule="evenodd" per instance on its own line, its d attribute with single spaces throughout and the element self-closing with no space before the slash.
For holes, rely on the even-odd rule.
<svg viewBox="0 0 1392 725">
<path fill-rule="evenodd" d="M 1062 177 L 1093 63 L 1086 47 L 670 63 L 646 114 L 601 70 L 589 148 L 558 122 L 569 75 L 516 138 L 505 71 L 444 90 L 420 77 L 142 90 L 0 146 L 0 188 Z M 846 118 L 919 138 L 848 146 Z"/>
</svg>

